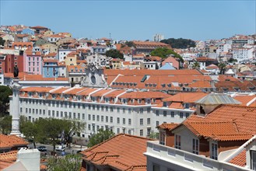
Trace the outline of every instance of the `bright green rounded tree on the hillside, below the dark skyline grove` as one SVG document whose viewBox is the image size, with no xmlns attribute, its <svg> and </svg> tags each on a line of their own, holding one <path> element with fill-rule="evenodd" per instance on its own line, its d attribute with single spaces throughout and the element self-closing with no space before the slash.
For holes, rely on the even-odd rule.
<svg viewBox="0 0 256 171">
<path fill-rule="evenodd" d="M 180 54 L 177 54 L 171 49 L 166 47 L 158 47 L 150 53 L 152 56 L 159 56 L 160 58 L 167 58 L 169 55 L 174 55 L 174 58 L 179 58 L 181 62 L 184 62 Z"/>
</svg>

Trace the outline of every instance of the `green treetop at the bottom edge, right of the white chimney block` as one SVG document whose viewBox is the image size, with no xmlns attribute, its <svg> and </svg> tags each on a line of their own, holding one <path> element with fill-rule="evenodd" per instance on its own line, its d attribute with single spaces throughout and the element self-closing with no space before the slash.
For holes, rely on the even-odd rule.
<svg viewBox="0 0 256 171">
<path fill-rule="evenodd" d="M 65 155 L 64 157 L 48 158 L 47 170 L 51 171 L 80 171 L 82 166 L 82 156 L 79 154 Z"/>
</svg>

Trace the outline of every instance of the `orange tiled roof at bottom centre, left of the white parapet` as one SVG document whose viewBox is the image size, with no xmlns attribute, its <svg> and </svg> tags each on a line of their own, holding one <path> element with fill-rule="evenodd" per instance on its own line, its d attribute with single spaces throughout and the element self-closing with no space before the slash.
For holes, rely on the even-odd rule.
<svg viewBox="0 0 256 171">
<path fill-rule="evenodd" d="M 146 142 L 148 138 L 117 134 L 99 145 L 81 152 L 83 159 L 96 166 L 109 166 L 118 170 L 146 170 Z"/>
</svg>

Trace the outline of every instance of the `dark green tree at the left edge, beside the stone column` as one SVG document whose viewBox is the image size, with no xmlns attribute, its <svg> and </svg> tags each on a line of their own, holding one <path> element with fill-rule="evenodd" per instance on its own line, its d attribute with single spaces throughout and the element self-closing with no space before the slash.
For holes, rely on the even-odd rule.
<svg viewBox="0 0 256 171">
<path fill-rule="evenodd" d="M 0 117 L 8 115 L 9 96 L 12 95 L 12 89 L 8 86 L 0 86 Z"/>
</svg>

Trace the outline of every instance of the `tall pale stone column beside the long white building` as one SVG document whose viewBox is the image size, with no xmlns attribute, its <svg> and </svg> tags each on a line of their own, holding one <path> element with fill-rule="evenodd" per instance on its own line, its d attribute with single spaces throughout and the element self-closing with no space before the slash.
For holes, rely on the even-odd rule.
<svg viewBox="0 0 256 171">
<path fill-rule="evenodd" d="M 15 134 L 20 137 L 19 132 L 19 89 L 22 86 L 19 85 L 19 79 L 13 79 L 13 83 L 11 85 L 12 88 L 12 106 L 10 109 L 10 114 L 12 115 L 12 132 L 11 134 Z"/>
</svg>

